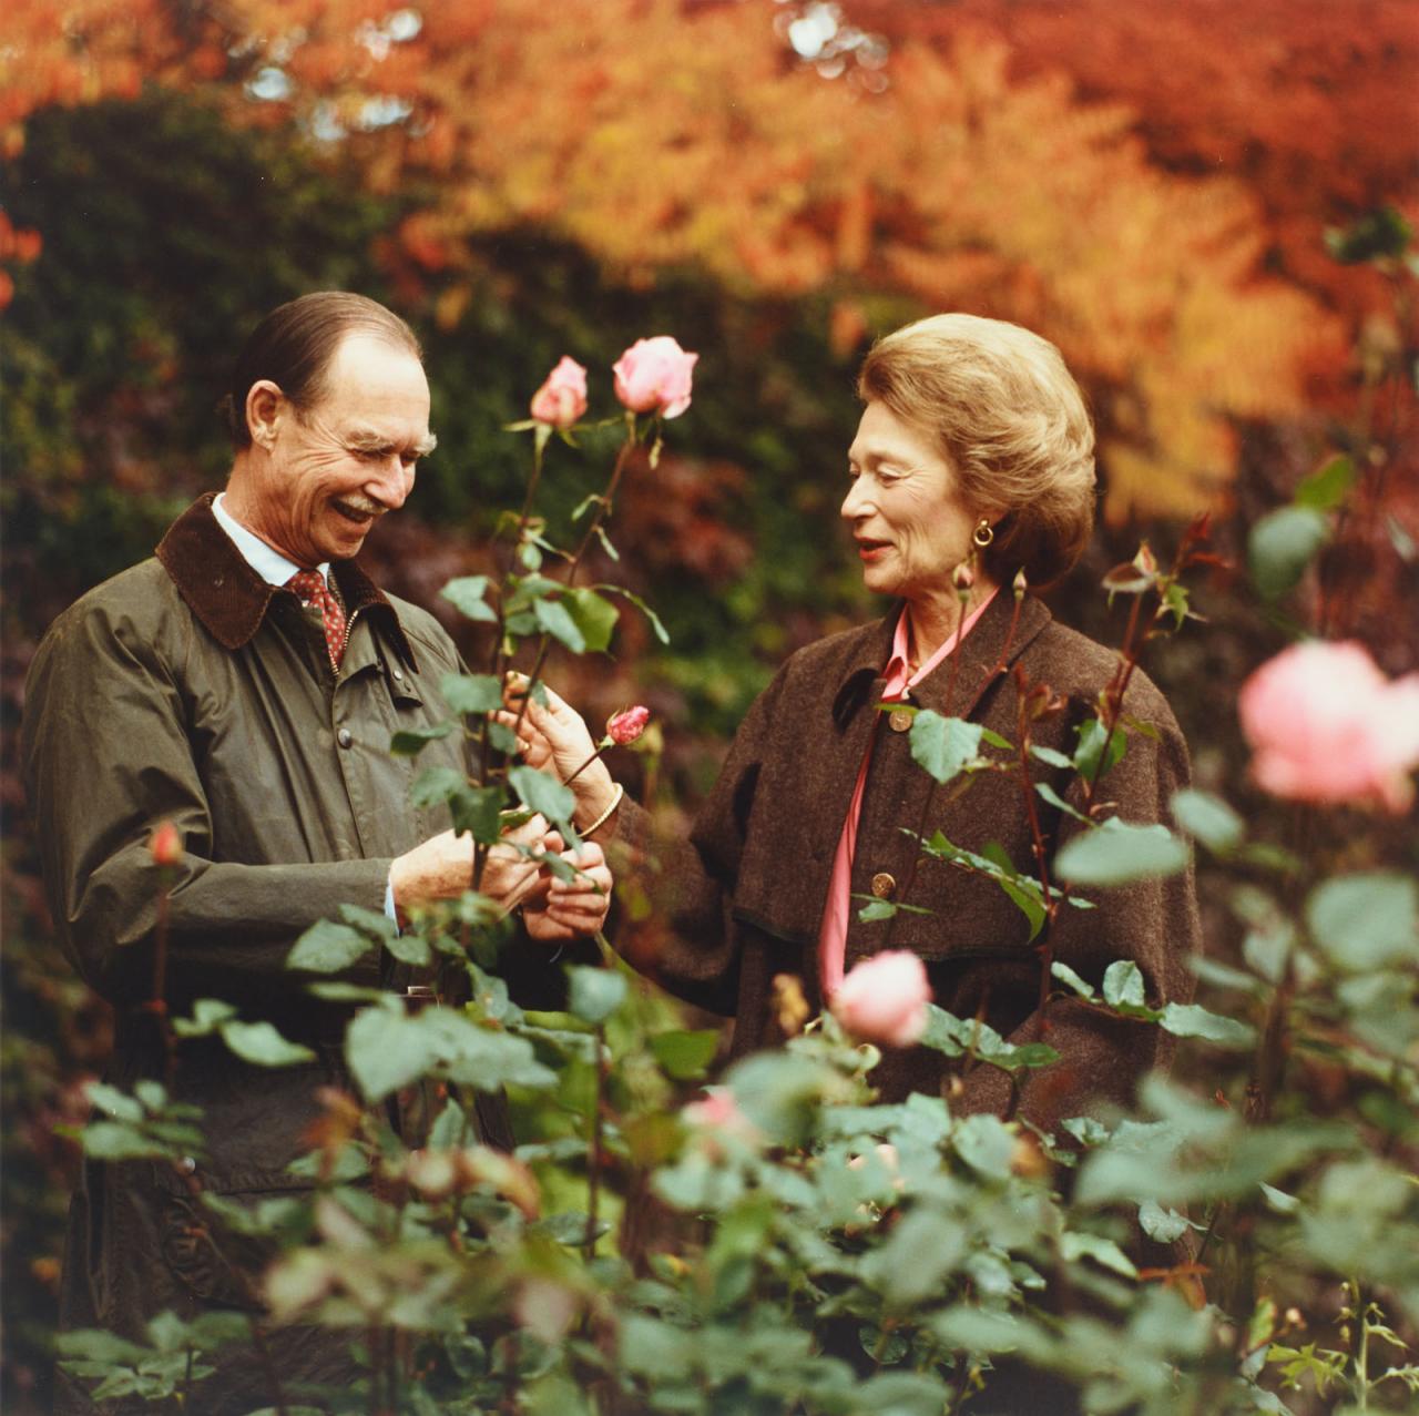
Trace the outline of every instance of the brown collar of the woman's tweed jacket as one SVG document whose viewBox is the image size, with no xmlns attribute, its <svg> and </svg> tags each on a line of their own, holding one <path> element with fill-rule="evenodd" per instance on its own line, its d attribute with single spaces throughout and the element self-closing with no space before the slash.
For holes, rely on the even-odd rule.
<svg viewBox="0 0 1419 1416">
<path fill-rule="evenodd" d="M 864 626 L 857 637 L 833 698 L 833 721 L 839 729 L 846 728 L 861 707 L 881 699 L 893 631 L 904 603 L 898 600 L 891 614 Z M 1033 594 L 1016 602 L 1010 590 L 1002 587 L 961 646 L 959 667 L 952 670 L 955 656 L 948 654 L 911 690 L 907 701 L 954 718 L 969 718 L 981 695 L 1009 671 L 1051 619 Z M 955 702 L 948 702 L 948 697 Z"/>
</svg>

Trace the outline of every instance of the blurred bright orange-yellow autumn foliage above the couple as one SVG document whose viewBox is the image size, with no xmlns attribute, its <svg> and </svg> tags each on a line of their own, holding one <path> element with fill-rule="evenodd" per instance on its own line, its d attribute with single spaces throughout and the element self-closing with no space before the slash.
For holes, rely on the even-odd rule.
<svg viewBox="0 0 1419 1416">
<path fill-rule="evenodd" d="M 189 41 L 156 0 L 138 38 L 115 18 L 132 6 L 81 9 L 96 82 L 150 64 L 233 122 L 324 125 L 375 190 L 430 190 L 387 253 L 443 322 L 467 299 L 467 238 L 539 226 L 631 281 L 694 265 L 751 297 L 824 291 L 844 356 L 914 311 L 1037 328 L 1094 399 L 1112 516 L 1215 499 L 1237 420 L 1298 411 L 1341 342 L 1260 274 L 1242 182 L 1161 169 L 1130 108 L 1012 70 L 981 33 L 904 37 L 870 92 L 799 62 L 765 0 L 426 0 L 417 27 L 382 0 L 226 0 L 183 10 Z M 233 60 L 213 82 L 217 30 Z M 263 68 L 282 87 L 264 102 L 244 87 Z"/>
</svg>

